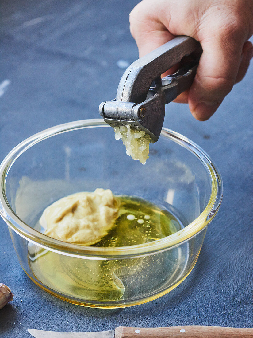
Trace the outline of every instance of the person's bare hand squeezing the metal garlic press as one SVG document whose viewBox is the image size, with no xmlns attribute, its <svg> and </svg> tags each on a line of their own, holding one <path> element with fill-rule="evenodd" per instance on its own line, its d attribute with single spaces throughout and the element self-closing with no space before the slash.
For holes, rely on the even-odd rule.
<svg viewBox="0 0 253 338">
<path fill-rule="evenodd" d="M 200 42 L 203 53 L 194 82 L 175 101 L 189 103 L 192 115 L 204 121 L 249 67 L 253 1 L 143 0 L 130 13 L 130 31 L 140 57 L 176 35 Z"/>
</svg>

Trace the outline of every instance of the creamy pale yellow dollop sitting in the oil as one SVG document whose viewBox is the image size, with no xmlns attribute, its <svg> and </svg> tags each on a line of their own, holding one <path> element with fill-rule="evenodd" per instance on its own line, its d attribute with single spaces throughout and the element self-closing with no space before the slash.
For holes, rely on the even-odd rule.
<svg viewBox="0 0 253 338">
<path fill-rule="evenodd" d="M 118 217 L 118 209 L 111 190 L 98 188 L 59 199 L 44 210 L 39 223 L 49 237 L 91 245 L 107 235 Z"/>
</svg>

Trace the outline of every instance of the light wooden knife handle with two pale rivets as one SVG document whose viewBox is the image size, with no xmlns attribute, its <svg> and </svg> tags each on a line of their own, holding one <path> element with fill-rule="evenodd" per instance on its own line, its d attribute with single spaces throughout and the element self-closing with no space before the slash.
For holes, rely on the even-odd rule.
<svg viewBox="0 0 253 338">
<path fill-rule="evenodd" d="M 115 328 L 115 338 L 253 338 L 253 329 L 219 326 L 171 326 L 167 328 Z"/>
</svg>

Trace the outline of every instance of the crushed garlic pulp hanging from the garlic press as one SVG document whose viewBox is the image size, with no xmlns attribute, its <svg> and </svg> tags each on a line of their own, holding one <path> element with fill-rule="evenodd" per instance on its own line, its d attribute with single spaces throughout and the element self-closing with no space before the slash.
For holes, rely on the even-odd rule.
<svg viewBox="0 0 253 338">
<path fill-rule="evenodd" d="M 122 139 L 126 153 L 133 160 L 139 160 L 142 164 L 145 164 L 148 159 L 150 135 L 143 130 L 132 129 L 130 124 L 116 126 L 114 131 L 115 139 Z"/>
</svg>

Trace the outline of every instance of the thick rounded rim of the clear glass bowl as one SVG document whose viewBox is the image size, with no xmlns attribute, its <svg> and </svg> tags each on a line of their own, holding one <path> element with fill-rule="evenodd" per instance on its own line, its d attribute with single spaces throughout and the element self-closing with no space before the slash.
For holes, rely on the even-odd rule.
<svg viewBox="0 0 253 338">
<path fill-rule="evenodd" d="M 7 225 L 18 235 L 35 245 L 67 256 L 96 260 L 125 259 L 157 254 L 158 252 L 178 246 L 196 236 L 215 217 L 219 210 L 223 196 L 223 183 L 218 168 L 207 153 L 196 143 L 175 131 L 163 128 L 161 132 L 162 137 L 166 137 L 186 148 L 200 160 L 209 173 L 212 185 L 210 198 L 205 209 L 185 228 L 168 237 L 145 244 L 124 247 L 94 247 L 56 240 L 38 232 L 23 222 L 10 207 L 5 193 L 6 178 L 12 164 L 19 158 L 19 156 L 22 155 L 23 152 L 40 141 L 63 132 L 90 127 L 110 127 L 110 125 L 108 125 L 104 119 L 86 119 L 56 125 L 30 136 L 19 143 L 6 155 L 0 165 L 0 214 Z"/>
</svg>

